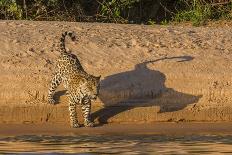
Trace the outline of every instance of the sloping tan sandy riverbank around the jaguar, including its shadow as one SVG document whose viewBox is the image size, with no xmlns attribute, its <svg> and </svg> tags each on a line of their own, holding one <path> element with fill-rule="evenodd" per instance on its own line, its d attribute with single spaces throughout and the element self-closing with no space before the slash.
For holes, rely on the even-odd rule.
<svg viewBox="0 0 232 155">
<path fill-rule="evenodd" d="M 66 47 L 102 75 L 95 122 L 232 120 L 231 27 L 0 21 L 0 123 L 68 125 L 63 87 L 46 102 L 66 30 L 78 35 Z"/>
</svg>

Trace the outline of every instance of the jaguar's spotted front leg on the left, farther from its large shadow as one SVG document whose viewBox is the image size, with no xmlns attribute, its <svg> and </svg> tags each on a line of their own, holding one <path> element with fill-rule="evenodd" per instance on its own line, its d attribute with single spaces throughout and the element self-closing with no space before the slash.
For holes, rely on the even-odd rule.
<svg viewBox="0 0 232 155">
<path fill-rule="evenodd" d="M 70 114 L 70 124 L 73 128 L 79 128 L 80 124 L 77 120 L 77 112 L 76 112 L 76 102 L 73 99 L 69 98 L 69 114 Z"/>
</svg>

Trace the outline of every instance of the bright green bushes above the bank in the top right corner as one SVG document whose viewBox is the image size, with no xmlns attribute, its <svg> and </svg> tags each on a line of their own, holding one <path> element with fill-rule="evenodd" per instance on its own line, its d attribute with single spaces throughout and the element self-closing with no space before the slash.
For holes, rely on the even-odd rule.
<svg viewBox="0 0 232 155">
<path fill-rule="evenodd" d="M 191 21 L 193 25 L 201 25 L 208 20 L 231 20 L 232 1 L 221 0 L 179 0 L 179 8 L 173 20 L 178 22 Z"/>
</svg>

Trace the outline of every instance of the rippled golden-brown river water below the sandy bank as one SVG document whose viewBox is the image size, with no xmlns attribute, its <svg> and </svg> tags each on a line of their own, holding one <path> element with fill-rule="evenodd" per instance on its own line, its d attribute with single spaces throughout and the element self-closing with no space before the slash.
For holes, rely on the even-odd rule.
<svg viewBox="0 0 232 155">
<path fill-rule="evenodd" d="M 0 138 L 0 154 L 232 154 L 231 135 L 25 135 Z"/>
</svg>

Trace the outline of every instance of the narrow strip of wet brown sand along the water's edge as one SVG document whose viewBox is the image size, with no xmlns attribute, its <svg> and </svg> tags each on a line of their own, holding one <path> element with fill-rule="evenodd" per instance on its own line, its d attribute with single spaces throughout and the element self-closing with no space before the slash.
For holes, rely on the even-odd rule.
<svg viewBox="0 0 232 155">
<path fill-rule="evenodd" d="M 67 124 L 1 124 L 0 136 L 17 135 L 232 135 L 232 123 L 109 124 L 70 128 Z"/>
</svg>

